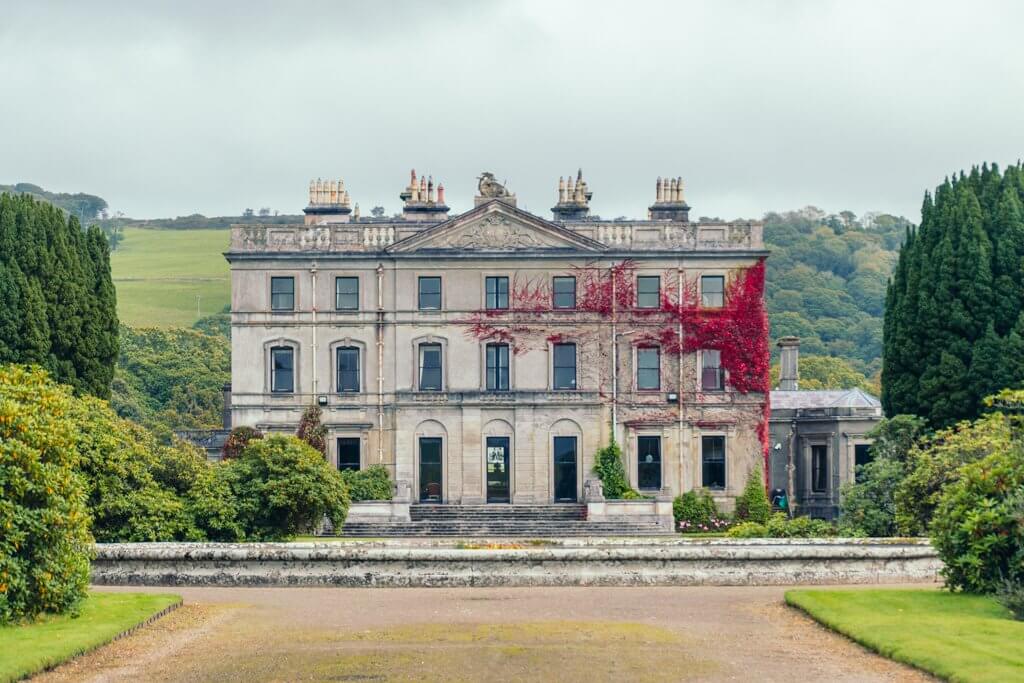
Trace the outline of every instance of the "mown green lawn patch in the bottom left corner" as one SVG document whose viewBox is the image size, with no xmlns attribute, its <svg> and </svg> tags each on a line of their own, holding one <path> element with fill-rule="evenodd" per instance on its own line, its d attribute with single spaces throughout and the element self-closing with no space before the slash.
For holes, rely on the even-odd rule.
<svg viewBox="0 0 1024 683">
<path fill-rule="evenodd" d="M 159 593 L 90 593 L 77 617 L 45 616 L 0 628 L 0 681 L 26 678 L 104 645 L 180 601 Z"/>
</svg>

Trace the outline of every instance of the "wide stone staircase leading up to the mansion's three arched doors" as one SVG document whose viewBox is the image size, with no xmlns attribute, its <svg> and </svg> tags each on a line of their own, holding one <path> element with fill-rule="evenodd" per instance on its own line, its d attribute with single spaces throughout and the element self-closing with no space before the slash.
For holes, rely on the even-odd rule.
<svg viewBox="0 0 1024 683">
<path fill-rule="evenodd" d="M 408 522 L 346 522 L 349 537 L 583 537 L 660 536 L 656 523 L 589 521 L 586 505 L 413 505 Z"/>
</svg>

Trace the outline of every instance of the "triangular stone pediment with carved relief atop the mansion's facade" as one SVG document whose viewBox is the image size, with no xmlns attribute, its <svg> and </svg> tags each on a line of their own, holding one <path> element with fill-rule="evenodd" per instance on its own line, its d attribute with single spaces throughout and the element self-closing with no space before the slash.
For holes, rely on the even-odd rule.
<svg viewBox="0 0 1024 683">
<path fill-rule="evenodd" d="M 604 249 L 600 242 L 494 201 L 396 242 L 387 251 L 516 253 Z"/>
</svg>

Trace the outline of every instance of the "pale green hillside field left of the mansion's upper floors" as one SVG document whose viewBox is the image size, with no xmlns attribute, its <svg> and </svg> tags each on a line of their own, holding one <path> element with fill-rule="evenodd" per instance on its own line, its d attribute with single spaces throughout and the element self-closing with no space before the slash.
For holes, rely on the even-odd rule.
<svg viewBox="0 0 1024 683">
<path fill-rule="evenodd" d="M 230 301 L 228 230 L 128 227 L 111 255 L 118 315 L 134 327 L 188 327 L 199 309 L 215 313 Z"/>
</svg>

